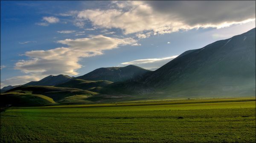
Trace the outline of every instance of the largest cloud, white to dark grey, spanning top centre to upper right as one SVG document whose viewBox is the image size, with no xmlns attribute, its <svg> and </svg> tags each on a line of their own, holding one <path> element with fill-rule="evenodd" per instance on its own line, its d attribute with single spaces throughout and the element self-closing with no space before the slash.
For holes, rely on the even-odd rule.
<svg viewBox="0 0 256 143">
<path fill-rule="evenodd" d="M 79 11 L 77 19 L 99 28 L 120 28 L 124 34 L 139 33 L 140 38 L 148 31 L 166 34 L 255 20 L 255 1 L 125 1 L 117 7 Z"/>
</svg>

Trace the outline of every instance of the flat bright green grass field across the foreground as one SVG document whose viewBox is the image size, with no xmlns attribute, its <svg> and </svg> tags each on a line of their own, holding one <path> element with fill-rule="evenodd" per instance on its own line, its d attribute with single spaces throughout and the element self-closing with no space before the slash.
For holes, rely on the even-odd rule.
<svg viewBox="0 0 256 143">
<path fill-rule="evenodd" d="M 3 142 L 254 142 L 255 98 L 12 107 Z"/>
</svg>

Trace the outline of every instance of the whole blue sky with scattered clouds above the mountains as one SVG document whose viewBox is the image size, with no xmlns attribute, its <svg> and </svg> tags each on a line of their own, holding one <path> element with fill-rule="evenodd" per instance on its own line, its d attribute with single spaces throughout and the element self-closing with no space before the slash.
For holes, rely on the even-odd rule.
<svg viewBox="0 0 256 143">
<path fill-rule="evenodd" d="M 3 88 L 100 67 L 155 70 L 255 28 L 255 1 L 1 0 L 0 18 Z"/>
</svg>

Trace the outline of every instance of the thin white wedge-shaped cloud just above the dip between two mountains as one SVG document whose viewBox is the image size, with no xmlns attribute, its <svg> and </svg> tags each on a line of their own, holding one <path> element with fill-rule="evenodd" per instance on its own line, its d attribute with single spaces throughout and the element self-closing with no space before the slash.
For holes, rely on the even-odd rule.
<svg viewBox="0 0 256 143">
<path fill-rule="evenodd" d="M 123 62 L 121 63 L 122 65 L 137 65 L 139 67 L 143 67 L 145 69 L 155 69 L 163 66 L 164 64 L 170 62 L 172 59 L 175 59 L 178 55 L 176 56 L 170 56 L 170 57 L 165 57 L 165 58 L 159 58 L 159 59 L 137 59 L 131 62 Z"/>
</svg>

